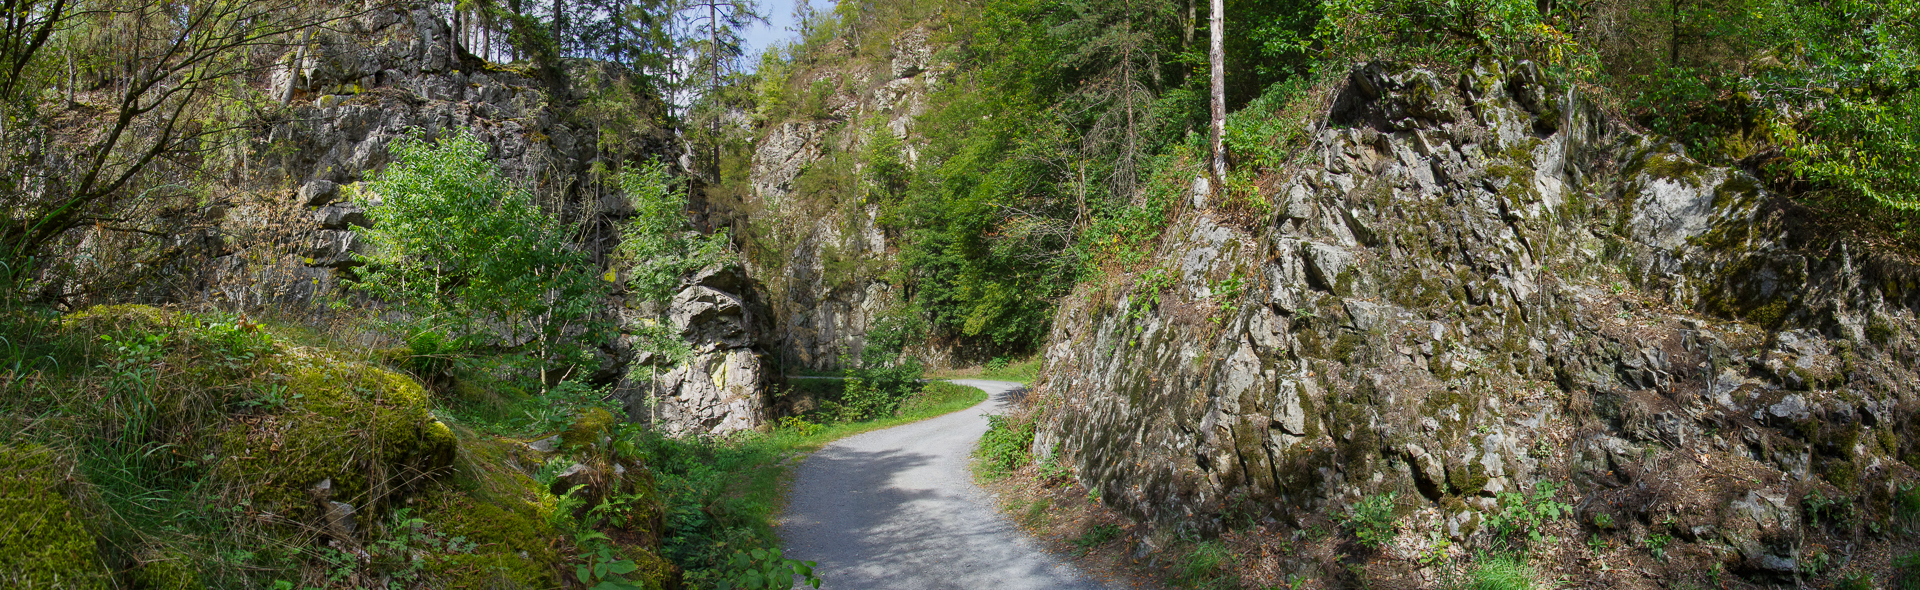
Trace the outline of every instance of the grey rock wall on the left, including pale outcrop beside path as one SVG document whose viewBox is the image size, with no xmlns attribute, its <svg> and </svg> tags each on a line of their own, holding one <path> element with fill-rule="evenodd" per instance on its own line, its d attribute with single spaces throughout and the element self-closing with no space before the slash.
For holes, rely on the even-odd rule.
<svg viewBox="0 0 1920 590">
<path fill-rule="evenodd" d="M 353 254 L 367 252 L 355 229 L 380 223 L 367 213 L 378 194 L 357 183 L 392 161 L 392 140 L 415 131 L 474 135 L 507 179 L 549 213 L 578 223 L 580 248 L 618 277 L 618 225 L 634 209 L 618 183 L 593 169 L 680 150 L 670 129 L 609 129 L 595 119 L 609 113 L 589 110 L 614 102 L 589 106 L 588 98 L 616 92 L 616 67 L 572 60 L 564 71 L 541 73 L 486 61 L 459 46 L 445 17 L 428 8 L 367 12 L 275 63 L 250 83 L 280 106 L 255 113 L 238 154 L 215 165 L 207 188 L 215 198 L 165 211 L 157 234 L 83 231 L 60 281 L 69 306 L 134 300 L 324 315 L 328 300 L 351 298 L 342 279 L 361 263 Z M 622 121 L 643 123 L 664 110 L 653 96 L 630 96 L 626 108 L 637 115 Z M 109 252 L 142 256 L 125 261 Z M 593 342 L 601 363 L 584 377 L 614 386 L 630 404 L 641 404 L 645 396 L 632 398 L 639 390 L 685 400 L 664 404 L 659 415 L 676 434 L 755 429 L 766 421 L 764 394 L 778 379 L 762 361 L 762 323 L 747 321 L 745 309 L 762 304 L 737 269 L 687 279 L 666 307 L 624 294 L 605 300 L 603 313 L 620 334 Z M 657 321 L 672 321 L 693 348 L 680 369 L 655 371 L 657 359 L 634 346 L 634 332 Z M 668 377 L 651 386 L 657 373 Z"/>
</svg>

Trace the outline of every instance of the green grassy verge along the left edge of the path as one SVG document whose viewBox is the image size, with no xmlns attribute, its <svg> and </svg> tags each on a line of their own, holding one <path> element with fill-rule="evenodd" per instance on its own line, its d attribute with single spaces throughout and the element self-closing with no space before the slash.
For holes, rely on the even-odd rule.
<svg viewBox="0 0 1920 590">
<path fill-rule="evenodd" d="M 695 588 L 728 573 L 730 555 L 776 550 L 774 517 L 793 467 L 828 442 L 973 407 L 987 392 L 950 382 L 927 382 L 900 402 L 891 417 L 818 425 L 789 417 L 772 432 L 728 438 L 664 438 L 645 430 L 626 436 L 641 448 L 666 502 L 668 559 L 687 571 Z"/>
</svg>

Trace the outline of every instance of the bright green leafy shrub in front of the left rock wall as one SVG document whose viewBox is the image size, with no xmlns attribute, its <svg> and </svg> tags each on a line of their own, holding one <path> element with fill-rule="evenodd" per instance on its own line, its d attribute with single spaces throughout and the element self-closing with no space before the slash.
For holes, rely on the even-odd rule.
<svg viewBox="0 0 1920 590">
<path fill-rule="evenodd" d="M 532 336 L 540 365 L 584 354 L 568 342 L 591 338 L 563 334 L 597 327 L 607 283 L 574 229 L 509 184 L 472 135 L 434 144 L 411 131 L 390 150 L 365 188 L 378 196 L 374 227 L 359 229 L 372 254 L 357 254 L 367 269 L 351 286 L 459 334 Z"/>
</svg>

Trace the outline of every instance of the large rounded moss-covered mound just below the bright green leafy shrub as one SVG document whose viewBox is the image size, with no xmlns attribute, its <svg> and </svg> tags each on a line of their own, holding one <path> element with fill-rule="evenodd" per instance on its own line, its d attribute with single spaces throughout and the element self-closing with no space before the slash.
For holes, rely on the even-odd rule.
<svg viewBox="0 0 1920 590">
<path fill-rule="evenodd" d="M 300 352 L 276 369 L 286 406 L 228 417 L 217 434 L 217 473 L 255 507 L 311 517 L 321 482 L 330 482 L 324 500 L 365 507 L 453 463 L 453 432 L 428 413 L 413 379 Z"/>
</svg>

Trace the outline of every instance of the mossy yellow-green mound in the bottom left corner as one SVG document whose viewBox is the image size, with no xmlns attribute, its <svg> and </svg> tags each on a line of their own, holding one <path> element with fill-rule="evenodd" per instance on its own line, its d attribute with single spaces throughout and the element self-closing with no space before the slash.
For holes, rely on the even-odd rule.
<svg viewBox="0 0 1920 590">
<path fill-rule="evenodd" d="M 46 448 L 0 446 L 0 586 L 108 588 L 94 536 Z"/>
</svg>

